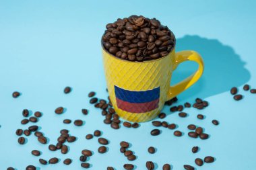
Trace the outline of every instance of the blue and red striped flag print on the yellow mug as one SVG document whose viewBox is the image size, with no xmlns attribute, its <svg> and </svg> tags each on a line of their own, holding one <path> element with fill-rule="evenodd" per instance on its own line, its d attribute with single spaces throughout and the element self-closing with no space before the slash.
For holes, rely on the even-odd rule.
<svg viewBox="0 0 256 170">
<path fill-rule="evenodd" d="M 158 108 L 160 87 L 147 91 L 129 91 L 115 86 L 117 107 L 131 113 L 145 113 Z"/>
</svg>

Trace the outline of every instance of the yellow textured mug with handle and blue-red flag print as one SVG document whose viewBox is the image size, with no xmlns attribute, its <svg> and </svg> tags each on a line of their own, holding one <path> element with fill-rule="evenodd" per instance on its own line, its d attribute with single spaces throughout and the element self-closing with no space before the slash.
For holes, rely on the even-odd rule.
<svg viewBox="0 0 256 170">
<path fill-rule="evenodd" d="M 162 58 L 134 62 L 117 58 L 102 46 L 102 56 L 110 101 L 117 114 L 131 122 L 154 119 L 165 101 L 185 91 L 203 74 L 203 60 L 193 50 L 175 52 L 173 48 Z M 197 62 L 197 71 L 170 86 L 172 71 L 186 60 Z"/>
</svg>

